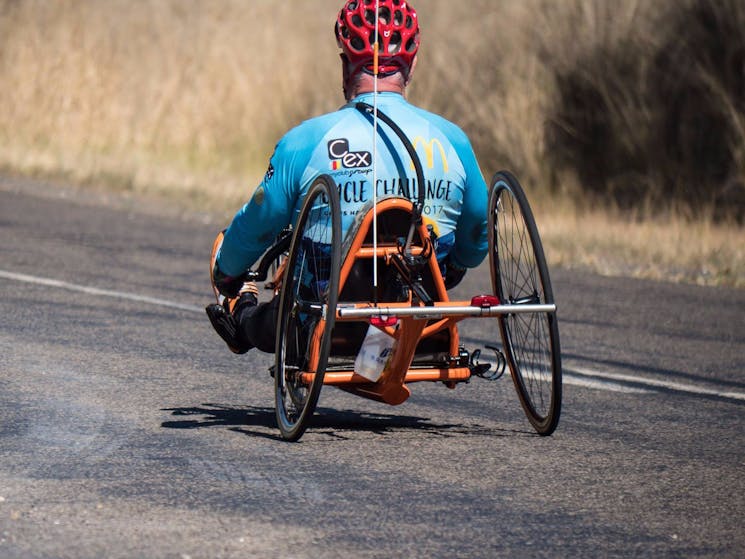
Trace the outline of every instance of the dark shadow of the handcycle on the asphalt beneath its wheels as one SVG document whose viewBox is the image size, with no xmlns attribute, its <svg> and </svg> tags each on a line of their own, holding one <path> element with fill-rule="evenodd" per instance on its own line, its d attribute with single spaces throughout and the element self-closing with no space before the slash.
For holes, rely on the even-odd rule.
<svg viewBox="0 0 745 559">
<path fill-rule="evenodd" d="M 246 435 L 279 439 L 276 430 L 274 408 L 222 404 L 201 404 L 199 406 L 164 408 L 162 411 L 183 417 L 164 421 L 165 429 L 198 429 L 203 427 L 227 427 Z M 258 431 L 252 428 L 262 428 Z M 266 432 L 263 429 L 270 431 Z M 348 439 L 354 433 L 377 435 L 401 434 L 406 432 L 426 433 L 432 436 L 488 436 L 488 437 L 534 437 L 532 431 L 499 429 L 477 423 L 438 423 L 430 418 L 412 415 L 361 412 L 355 410 L 336 410 L 319 408 L 313 417 L 310 429 L 324 437 Z M 307 434 L 306 434 L 307 437 Z"/>
</svg>

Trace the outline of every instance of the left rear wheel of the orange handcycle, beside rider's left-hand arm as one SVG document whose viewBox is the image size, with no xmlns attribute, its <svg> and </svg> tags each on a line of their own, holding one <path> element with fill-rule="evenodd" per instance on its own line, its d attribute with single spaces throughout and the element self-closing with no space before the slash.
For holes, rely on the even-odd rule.
<svg viewBox="0 0 745 559">
<path fill-rule="evenodd" d="M 284 439 L 298 440 L 323 386 L 336 316 L 341 217 L 333 179 L 319 176 L 305 196 L 280 291 L 274 393 Z M 313 375 L 308 382 L 308 374 Z"/>
</svg>

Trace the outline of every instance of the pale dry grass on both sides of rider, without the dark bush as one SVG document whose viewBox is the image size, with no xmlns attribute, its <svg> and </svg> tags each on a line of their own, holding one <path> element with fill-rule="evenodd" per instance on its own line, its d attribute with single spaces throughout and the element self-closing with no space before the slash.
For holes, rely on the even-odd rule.
<svg viewBox="0 0 745 559">
<path fill-rule="evenodd" d="M 465 128 L 486 175 L 515 171 L 551 208 L 555 263 L 743 286 L 742 228 L 574 207 L 580 181 L 550 157 L 557 71 L 630 34 L 653 47 L 670 2 L 419 0 L 410 96 Z M 286 129 L 342 102 L 339 5 L 0 0 L 0 168 L 235 208 Z"/>
</svg>

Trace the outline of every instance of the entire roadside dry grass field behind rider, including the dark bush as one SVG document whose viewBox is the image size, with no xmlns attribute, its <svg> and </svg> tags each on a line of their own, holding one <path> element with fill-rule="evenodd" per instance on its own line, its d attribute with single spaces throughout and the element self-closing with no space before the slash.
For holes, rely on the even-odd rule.
<svg viewBox="0 0 745 559">
<path fill-rule="evenodd" d="M 342 103 L 340 4 L 0 0 L 0 169 L 229 212 L 286 129 Z M 712 58 L 689 65 L 700 70 L 693 81 L 650 74 L 706 52 L 666 43 L 685 18 L 693 30 L 711 17 L 737 29 L 741 2 L 415 6 L 423 44 L 411 100 L 469 133 L 487 177 L 507 168 L 521 178 L 555 264 L 745 287 L 741 210 L 719 211 L 745 192 L 739 44 L 723 51 L 734 59 L 721 72 Z M 658 116 L 678 97 L 674 118 Z"/>
</svg>

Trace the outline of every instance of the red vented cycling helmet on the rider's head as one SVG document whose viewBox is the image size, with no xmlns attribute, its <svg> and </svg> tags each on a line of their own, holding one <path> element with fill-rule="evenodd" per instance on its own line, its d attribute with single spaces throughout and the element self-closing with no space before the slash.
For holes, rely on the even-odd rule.
<svg viewBox="0 0 745 559">
<path fill-rule="evenodd" d="M 349 75 L 372 73 L 376 0 L 347 0 L 336 20 L 336 39 L 349 64 Z M 377 0 L 378 71 L 402 71 L 408 77 L 419 49 L 419 20 L 405 0 Z"/>
</svg>

